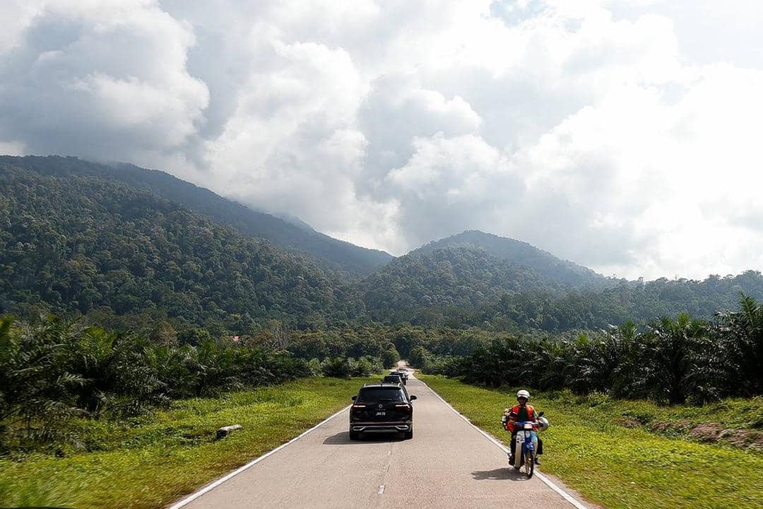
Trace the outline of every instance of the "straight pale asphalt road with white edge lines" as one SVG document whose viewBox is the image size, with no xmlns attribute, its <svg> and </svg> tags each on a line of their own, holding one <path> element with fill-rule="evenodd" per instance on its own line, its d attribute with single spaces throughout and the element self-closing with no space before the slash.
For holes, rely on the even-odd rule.
<svg viewBox="0 0 763 509">
<path fill-rule="evenodd" d="M 412 440 L 350 441 L 344 411 L 185 507 L 573 507 L 510 469 L 506 454 L 423 382 L 411 378 L 407 389 L 418 397 Z"/>
</svg>

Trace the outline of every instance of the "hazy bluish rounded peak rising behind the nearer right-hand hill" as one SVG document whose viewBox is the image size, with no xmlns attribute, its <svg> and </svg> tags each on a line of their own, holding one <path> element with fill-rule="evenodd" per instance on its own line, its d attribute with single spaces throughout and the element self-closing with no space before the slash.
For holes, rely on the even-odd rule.
<svg viewBox="0 0 763 509">
<path fill-rule="evenodd" d="M 409 254 L 431 253 L 452 246 L 470 246 L 484 250 L 485 253 L 498 259 L 526 266 L 571 290 L 597 291 L 617 285 L 617 281 L 614 279 L 605 278 L 587 267 L 559 259 L 529 243 L 486 234 L 479 230 L 468 230 L 451 237 L 434 240 Z"/>
</svg>

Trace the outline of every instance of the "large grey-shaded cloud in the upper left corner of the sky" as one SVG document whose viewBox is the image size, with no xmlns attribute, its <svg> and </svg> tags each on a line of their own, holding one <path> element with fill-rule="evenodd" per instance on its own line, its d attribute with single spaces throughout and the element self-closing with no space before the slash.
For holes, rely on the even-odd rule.
<svg viewBox="0 0 763 509">
<path fill-rule="evenodd" d="M 191 27 L 152 2 L 38 2 L 36 13 L 2 56 L 0 140 L 150 163 L 195 134 L 208 92 L 185 70 Z"/>
</svg>

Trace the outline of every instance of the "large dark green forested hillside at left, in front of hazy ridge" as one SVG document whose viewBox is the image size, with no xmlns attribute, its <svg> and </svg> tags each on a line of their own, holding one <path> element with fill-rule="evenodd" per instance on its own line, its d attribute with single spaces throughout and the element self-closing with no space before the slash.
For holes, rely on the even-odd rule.
<svg viewBox="0 0 763 509">
<path fill-rule="evenodd" d="M 180 327 L 362 314 L 336 272 L 146 189 L 0 163 L 0 314 L 36 308 Z"/>
</svg>

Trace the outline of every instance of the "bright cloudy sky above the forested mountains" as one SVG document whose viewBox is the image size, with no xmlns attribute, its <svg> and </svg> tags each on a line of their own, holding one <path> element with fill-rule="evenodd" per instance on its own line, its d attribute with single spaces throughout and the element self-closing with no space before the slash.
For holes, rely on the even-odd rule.
<svg viewBox="0 0 763 509">
<path fill-rule="evenodd" d="M 396 256 L 763 269 L 763 2 L 3 0 L 0 153 L 162 169 Z"/>
</svg>

